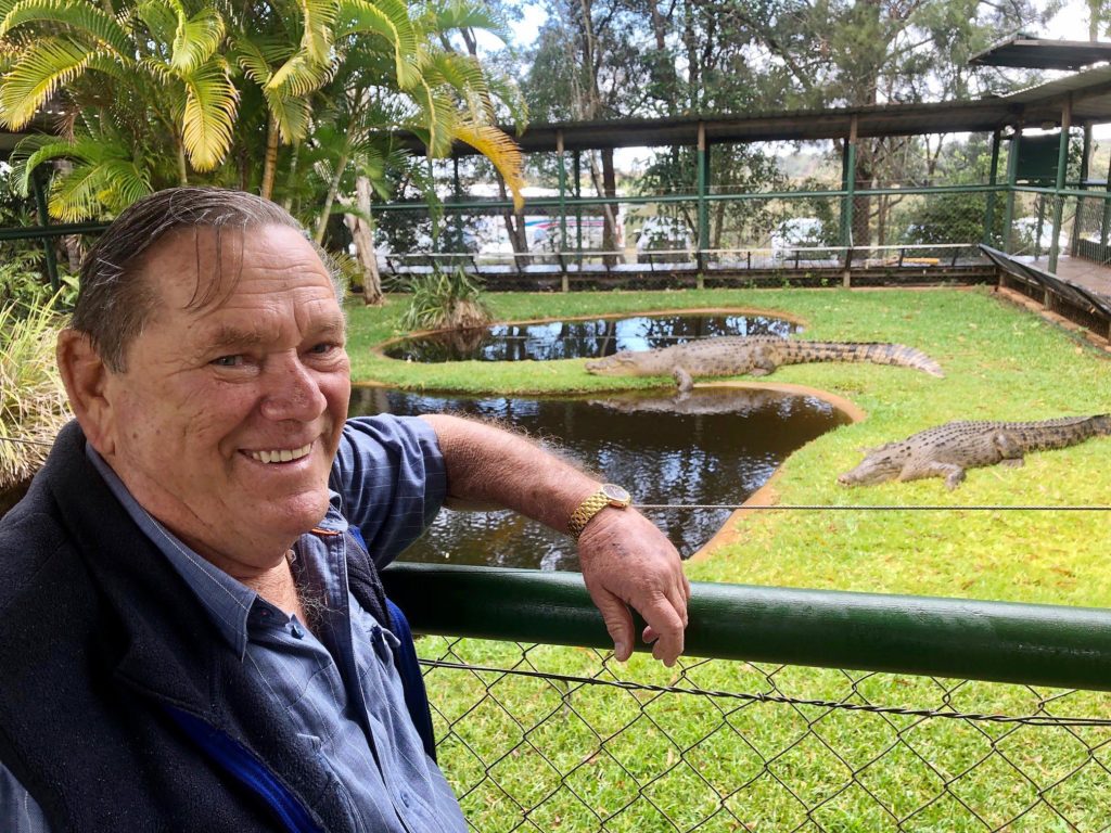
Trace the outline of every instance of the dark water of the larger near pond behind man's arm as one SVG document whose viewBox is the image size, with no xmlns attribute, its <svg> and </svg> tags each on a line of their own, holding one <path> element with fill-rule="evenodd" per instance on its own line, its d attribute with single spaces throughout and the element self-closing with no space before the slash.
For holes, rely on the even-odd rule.
<svg viewBox="0 0 1111 833">
<path fill-rule="evenodd" d="M 737 505 L 759 489 L 792 451 L 847 424 L 849 418 L 813 397 L 775 391 L 702 390 L 680 403 L 672 391 L 605 399 L 468 399 L 360 389 L 352 414 L 440 413 L 496 418 L 559 446 L 637 504 Z M 644 510 L 683 556 L 705 543 L 729 510 Z M 513 512 L 443 510 L 404 561 L 577 570 L 564 535 Z"/>
</svg>

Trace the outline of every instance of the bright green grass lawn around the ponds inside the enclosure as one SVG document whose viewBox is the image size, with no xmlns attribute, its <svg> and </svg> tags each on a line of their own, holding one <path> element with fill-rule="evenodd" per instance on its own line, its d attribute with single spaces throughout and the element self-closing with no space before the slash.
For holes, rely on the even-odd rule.
<svg viewBox="0 0 1111 833">
<path fill-rule="evenodd" d="M 490 294 L 498 320 L 735 308 L 802 320 L 802 338 L 893 341 L 937 359 L 944 379 L 868 364 L 794 365 L 768 381 L 810 385 L 867 413 L 792 455 L 778 502 L 952 511 L 752 512 L 732 543 L 689 564 L 701 581 L 1111 606 L 1107 512 L 961 511 L 969 505 L 1108 505 L 1111 439 L 1031 454 L 1022 469 L 844 490 L 861 446 L 953 419 L 1034 420 L 1111 410 L 1107 354 L 988 290 L 754 290 Z M 402 302 L 351 309 L 356 381 L 416 390 L 542 393 L 652 384 L 591 377 L 582 361 L 418 365 L 373 345 L 396 334 Z M 661 382 L 664 380 L 660 380 Z M 633 488 L 635 495 L 635 484 Z M 743 639 L 743 622 L 738 623 Z M 422 640 L 424 656 L 501 668 L 610 674 L 707 690 L 962 712 L 1105 716 L 1111 697 L 841 671 L 688 663 L 600 663 L 591 651 Z M 1099 829 L 1111 816 L 1104 726 L 1064 729 L 823 706 L 601 690 L 547 680 L 433 671 L 441 763 L 482 831 L 1025 831 Z M 490 688 L 492 686 L 492 688 Z M 572 686 L 573 688 L 573 686 Z M 489 692 L 489 693 L 488 693 Z M 458 721 L 458 722 L 457 722 Z M 449 729 L 450 726 L 450 729 Z M 808 812 L 809 809 L 809 812 Z M 1069 819 L 1073 827 L 1061 821 Z M 1015 820 L 1013 821 L 1012 820 Z M 900 826 L 900 821 L 902 824 Z"/>
</svg>

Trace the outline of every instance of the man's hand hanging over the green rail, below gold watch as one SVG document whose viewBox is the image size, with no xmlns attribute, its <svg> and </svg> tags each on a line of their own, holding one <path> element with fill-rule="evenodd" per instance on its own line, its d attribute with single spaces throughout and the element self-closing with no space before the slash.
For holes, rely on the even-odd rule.
<svg viewBox="0 0 1111 833">
<path fill-rule="evenodd" d="M 679 553 L 660 529 L 634 509 L 604 509 L 579 538 L 579 560 L 590 598 L 613 639 L 613 654 L 632 654 L 631 606 L 648 623 L 642 635 L 652 656 L 675 664 L 683 652 L 691 585 Z"/>
</svg>

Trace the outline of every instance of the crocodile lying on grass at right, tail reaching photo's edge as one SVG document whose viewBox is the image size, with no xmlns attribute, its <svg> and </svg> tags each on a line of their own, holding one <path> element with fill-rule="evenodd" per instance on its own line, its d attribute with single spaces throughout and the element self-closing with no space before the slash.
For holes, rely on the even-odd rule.
<svg viewBox="0 0 1111 833">
<path fill-rule="evenodd" d="M 1028 451 L 1063 449 L 1107 434 L 1111 434 L 1111 415 L 1105 413 L 1041 422 L 957 420 L 865 451 L 860 465 L 838 482 L 872 485 L 888 480 L 944 478 L 945 485 L 955 489 L 964 480 L 965 469 L 1022 465 Z"/>
</svg>

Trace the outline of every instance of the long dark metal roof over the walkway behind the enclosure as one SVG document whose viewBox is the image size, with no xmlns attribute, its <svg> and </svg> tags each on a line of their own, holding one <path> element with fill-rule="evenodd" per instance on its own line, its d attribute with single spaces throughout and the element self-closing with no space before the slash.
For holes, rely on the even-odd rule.
<svg viewBox="0 0 1111 833">
<path fill-rule="evenodd" d="M 1074 126 L 1111 122 L 1111 67 L 1079 72 L 1008 96 L 972 101 L 534 123 L 520 136 L 512 124 L 502 126 L 502 129 L 527 153 L 554 151 L 560 134 L 565 150 L 691 145 L 698 141 L 700 123 L 710 143 L 845 139 L 854 118 L 859 137 L 981 132 L 1015 127 L 1057 127 L 1070 97 Z M 411 136 L 402 134 L 402 139 L 408 147 L 422 148 Z M 458 145 L 456 150 L 457 155 L 476 152 L 466 145 Z"/>
</svg>

